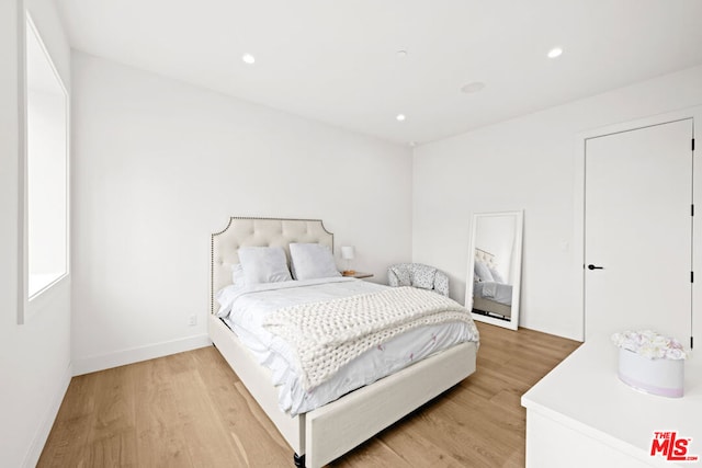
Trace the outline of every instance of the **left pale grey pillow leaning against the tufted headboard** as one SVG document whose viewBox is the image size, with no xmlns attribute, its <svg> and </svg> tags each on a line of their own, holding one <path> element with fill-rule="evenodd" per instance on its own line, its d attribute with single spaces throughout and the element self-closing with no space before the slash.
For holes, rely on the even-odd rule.
<svg viewBox="0 0 702 468">
<path fill-rule="evenodd" d="M 238 253 L 248 286 L 292 279 L 282 247 L 242 247 Z"/>
</svg>

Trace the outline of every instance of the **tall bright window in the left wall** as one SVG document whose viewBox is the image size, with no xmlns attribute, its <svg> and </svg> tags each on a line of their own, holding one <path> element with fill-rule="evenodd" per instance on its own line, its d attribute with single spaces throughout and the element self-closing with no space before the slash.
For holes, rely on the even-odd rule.
<svg viewBox="0 0 702 468">
<path fill-rule="evenodd" d="M 25 62 L 24 292 L 32 301 L 68 275 L 68 93 L 29 13 Z"/>
</svg>

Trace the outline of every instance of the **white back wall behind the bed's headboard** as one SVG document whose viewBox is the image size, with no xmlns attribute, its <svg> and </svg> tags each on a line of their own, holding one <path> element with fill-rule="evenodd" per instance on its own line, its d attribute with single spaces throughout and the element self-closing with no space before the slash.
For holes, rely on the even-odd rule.
<svg viewBox="0 0 702 468">
<path fill-rule="evenodd" d="M 355 246 L 376 281 L 409 260 L 408 148 L 82 53 L 72 65 L 77 373 L 206 343 L 210 235 L 230 215 L 322 219 L 337 258 Z"/>
</svg>

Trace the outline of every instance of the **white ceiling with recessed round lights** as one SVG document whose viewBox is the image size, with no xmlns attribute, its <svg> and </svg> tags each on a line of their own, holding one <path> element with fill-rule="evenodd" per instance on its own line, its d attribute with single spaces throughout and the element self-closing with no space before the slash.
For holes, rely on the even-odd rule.
<svg viewBox="0 0 702 468">
<path fill-rule="evenodd" d="M 56 3 L 73 48 L 401 144 L 702 64 L 702 0 Z"/>
</svg>

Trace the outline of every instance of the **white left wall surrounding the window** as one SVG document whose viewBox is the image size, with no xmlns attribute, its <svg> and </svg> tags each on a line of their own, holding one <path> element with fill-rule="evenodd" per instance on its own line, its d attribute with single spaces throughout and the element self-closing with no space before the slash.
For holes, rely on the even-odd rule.
<svg viewBox="0 0 702 468">
<path fill-rule="evenodd" d="M 26 2 L 69 88 L 70 50 L 50 1 Z M 18 1 L 0 2 L 0 464 L 36 464 L 70 379 L 70 282 L 43 299 L 22 326 L 18 316 L 19 116 Z M 70 89 L 70 88 L 69 88 Z"/>
</svg>

